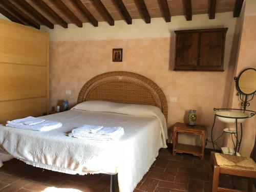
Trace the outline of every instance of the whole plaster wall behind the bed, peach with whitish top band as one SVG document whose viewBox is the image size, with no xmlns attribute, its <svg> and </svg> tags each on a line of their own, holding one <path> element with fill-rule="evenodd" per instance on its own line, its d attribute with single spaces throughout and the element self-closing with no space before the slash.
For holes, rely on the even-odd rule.
<svg viewBox="0 0 256 192">
<path fill-rule="evenodd" d="M 195 15 L 191 22 L 184 16 L 172 17 L 165 23 L 162 18 L 145 24 L 141 19 L 132 25 L 123 21 L 109 26 L 102 22 L 95 28 L 69 25 L 68 29 L 55 26 L 50 33 L 50 106 L 58 100 L 69 99 L 76 103 L 78 93 L 90 78 L 109 71 L 131 71 L 155 81 L 163 90 L 167 101 L 170 96 L 177 102 L 168 102 L 168 127 L 175 122 L 187 122 L 187 111 L 197 110 L 197 124 L 204 124 L 210 133 L 214 118 L 213 108 L 228 105 L 232 67 L 232 52 L 237 18 L 232 12 L 218 13 L 209 20 L 207 14 Z M 224 72 L 176 72 L 174 69 L 174 30 L 227 27 Z M 123 62 L 112 62 L 112 49 L 123 49 Z M 230 59 L 231 58 L 231 59 Z M 65 90 L 72 94 L 65 95 Z M 222 132 L 218 122 L 215 135 Z M 208 136 L 209 137 L 209 136 Z M 193 143 L 193 137 L 182 136 L 183 143 Z M 220 141 L 222 143 L 222 141 Z M 208 145 L 207 147 L 210 147 Z"/>
</svg>

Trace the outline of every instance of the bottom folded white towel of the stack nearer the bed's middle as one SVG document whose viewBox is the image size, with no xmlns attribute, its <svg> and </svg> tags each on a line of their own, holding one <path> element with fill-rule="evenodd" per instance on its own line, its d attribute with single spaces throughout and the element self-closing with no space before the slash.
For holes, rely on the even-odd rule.
<svg viewBox="0 0 256 192">
<path fill-rule="evenodd" d="M 94 140 L 116 140 L 124 134 L 123 127 L 103 127 L 96 133 L 74 132 L 69 133 L 69 137 L 88 138 Z"/>
</svg>

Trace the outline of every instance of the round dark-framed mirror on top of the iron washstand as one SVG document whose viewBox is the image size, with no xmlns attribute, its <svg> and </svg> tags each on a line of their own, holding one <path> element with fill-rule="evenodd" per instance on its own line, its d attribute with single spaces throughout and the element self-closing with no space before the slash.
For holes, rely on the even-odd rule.
<svg viewBox="0 0 256 192">
<path fill-rule="evenodd" d="M 256 70 L 248 68 L 243 70 L 237 78 L 237 89 L 243 95 L 251 95 L 256 90 Z"/>
</svg>

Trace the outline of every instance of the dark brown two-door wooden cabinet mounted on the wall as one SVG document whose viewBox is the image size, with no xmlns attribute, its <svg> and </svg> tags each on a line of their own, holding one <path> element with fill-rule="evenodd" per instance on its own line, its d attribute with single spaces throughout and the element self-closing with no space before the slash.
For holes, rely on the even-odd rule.
<svg viewBox="0 0 256 192">
<path fill-rule="evenodd" d="M 224 71 L 227 29 L 175 31 L 176 53 L 174 70 Z"/>
</svg>

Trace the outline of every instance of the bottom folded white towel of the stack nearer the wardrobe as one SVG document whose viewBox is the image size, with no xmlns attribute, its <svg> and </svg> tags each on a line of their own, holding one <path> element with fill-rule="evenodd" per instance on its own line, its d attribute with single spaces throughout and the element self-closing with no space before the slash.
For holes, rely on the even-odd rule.
<svg viewBox="0 0 256 192">
<path fill-rule="evenodd" d="M 45 131 L 50 131 L 50 130 L 54 130 L 61 127 L 62 123 L 45 120 L 44 122 L 37 123 L 34 125 L 25 125 L 25 124 L 17 124 L 11 121 L 7 121 L 6 126 L 15 127 L 15 128 L 24 129 L 24 130 L 45 132 Z"/>
</svg>

